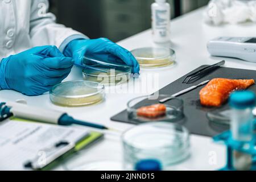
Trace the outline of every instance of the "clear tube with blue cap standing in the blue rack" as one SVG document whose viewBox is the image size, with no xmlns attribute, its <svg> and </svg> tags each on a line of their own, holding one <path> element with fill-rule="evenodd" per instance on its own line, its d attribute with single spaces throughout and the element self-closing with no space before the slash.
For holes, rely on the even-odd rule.
<svg viewBox="0 0 256 182">
<path fill-rule="evenodd" d="M 254 134 L 254 116 L 256 97 L 253 92 L 234 92 L 230 96 L 232 139 L 238 142 L 250 142 Z M 252 156 L 234 151 L 233 167 L 237 170 L 249 170 Z"/>
</svg>

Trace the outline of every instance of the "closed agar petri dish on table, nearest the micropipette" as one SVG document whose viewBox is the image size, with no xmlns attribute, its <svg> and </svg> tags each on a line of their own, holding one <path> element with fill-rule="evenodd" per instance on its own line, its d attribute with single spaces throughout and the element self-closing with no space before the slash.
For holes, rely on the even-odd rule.
<svg viewBox="0 0 256 182">
<path fill-rule="evenodd" d="M 68 81 L 53 86 L 50 100 L 60 106 L 86 106 L 104 100 L 104 85 L 91 81 Z"/>
</svg>

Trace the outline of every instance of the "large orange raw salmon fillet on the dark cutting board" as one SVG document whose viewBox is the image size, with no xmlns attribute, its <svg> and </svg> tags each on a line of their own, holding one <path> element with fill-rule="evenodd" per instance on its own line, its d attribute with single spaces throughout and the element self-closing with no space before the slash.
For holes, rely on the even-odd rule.
<svg viewBox="0 0 256 182">
<path fill-rule="evenodd" d="M 214 78 L 200 91 L 201 105 L 221 106 L 228 100 L 231 92 L 245 90 L 253 84 L 255 84 L 254 80 Z"/>
</svg>

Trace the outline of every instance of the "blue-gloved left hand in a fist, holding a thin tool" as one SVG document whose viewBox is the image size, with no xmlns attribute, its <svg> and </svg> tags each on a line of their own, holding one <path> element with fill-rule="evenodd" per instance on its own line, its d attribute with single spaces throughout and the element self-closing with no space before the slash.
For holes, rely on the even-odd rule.
<svg viewBox="0 0 256 182">
<path fill-rule="evenodd" d="M 37 96 L 64 80 L 73 64 L 72 58 L 65 57 L 55 46 L 35 47 L 2 60 L 1 88 Z"/>
</svg>

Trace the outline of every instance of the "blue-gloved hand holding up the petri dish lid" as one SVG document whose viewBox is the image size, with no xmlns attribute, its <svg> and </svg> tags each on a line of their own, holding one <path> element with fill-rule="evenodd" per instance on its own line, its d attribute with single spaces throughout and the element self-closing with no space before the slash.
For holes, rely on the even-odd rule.
<svg viewBox="0 0 256 182">
<path fill-rule="evenodd" d="M 81 65 L 83 57 L 86 56 L 107 63 L 125 63 L 133 67 L 133 73 L 139 73 L 139 64 L 135 57 L 106 38 L 72 40 L 63 53 L 67 57 L 73 57 L 76 64 Z"/>
</svg>

